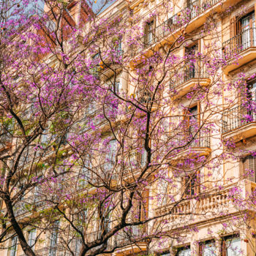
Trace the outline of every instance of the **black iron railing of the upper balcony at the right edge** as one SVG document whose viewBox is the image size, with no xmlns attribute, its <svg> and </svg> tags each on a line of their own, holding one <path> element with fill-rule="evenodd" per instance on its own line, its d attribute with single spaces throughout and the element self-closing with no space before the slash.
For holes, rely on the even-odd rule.
<svg viewBox="0 0 256 256">
<path fill-rule="evenodd" d="M 226 59 L 232 58 L 234 55 L 241 53 L 247 48 L 256 46 L 256 28 L 245 29 L 235 37 L 228 39 L 223 43 L 223 54 Z"/>
</svg>

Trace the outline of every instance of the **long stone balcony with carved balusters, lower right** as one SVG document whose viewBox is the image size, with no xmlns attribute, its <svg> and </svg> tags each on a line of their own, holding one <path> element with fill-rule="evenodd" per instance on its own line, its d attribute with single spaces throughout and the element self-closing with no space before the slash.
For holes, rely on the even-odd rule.
<svg viewBox="0 0 256 256">
<path fill-rule="evenodd" d="M 239 183 L 232 184 L 222 189 L 212 189 L 200 193 L 197 197 L 181 200 L 177 205 L 169 203 L 165 206 L 156 208 L 154 210 L 155 216 L 167 214 L 163 219 L 168 219 L 170 222 L 176 219 L 179 225 L 191 225 L 198 222 L 216 221 L 216 217 L 226 217 L 230 214 L 237 214 L 244 211 L 244 206 L 238 206 L 234 197 L 247 198 L 252 193 L 255 193 L 256 184 L 252 181 L 242 180 Z M 236 192 L 234 192 L 236 191 Z M 240 208 L 241 207 L 241 208 Z M 249 206 L 250 207 L 250 206 Z M 177 221 L 178 218 L 178 221 Z M 162 218 L 159 221 L 162 222 Z"/>
</svg>

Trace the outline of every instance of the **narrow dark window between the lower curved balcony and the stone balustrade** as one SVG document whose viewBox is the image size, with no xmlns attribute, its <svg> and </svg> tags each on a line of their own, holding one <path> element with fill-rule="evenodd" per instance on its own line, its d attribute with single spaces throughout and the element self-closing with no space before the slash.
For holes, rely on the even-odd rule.
<svg viewBox="0 0 256 256">
<path fill-rule="evenodd" d="M 192 197 L 200 193 L 200 172 L 192 173 L 182 178 L 185 197 Z"/>
</svg>

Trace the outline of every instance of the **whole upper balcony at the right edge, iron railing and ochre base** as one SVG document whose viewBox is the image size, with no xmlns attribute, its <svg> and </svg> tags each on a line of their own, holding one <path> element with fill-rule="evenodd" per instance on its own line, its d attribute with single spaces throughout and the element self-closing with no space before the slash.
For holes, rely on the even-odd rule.
<svg viewBox="0 0 256 256">
<path fill-rule="evenodd" d="M 228 39 L 223 43 L 222 49 L 224 59 L 227 61 L 223 72 L 227 75 L 256 59 L 256 29 L 246 29 L 236 37 Z"/>
</svg>

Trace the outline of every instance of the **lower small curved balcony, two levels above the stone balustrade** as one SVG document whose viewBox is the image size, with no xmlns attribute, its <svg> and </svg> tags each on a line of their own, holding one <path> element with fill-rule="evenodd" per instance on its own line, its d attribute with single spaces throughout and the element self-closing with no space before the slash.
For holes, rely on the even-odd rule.
<svg viewBox="0 0 256 256">
<path fill-rule="evenodd" d="M 175 142 L 174 146 L 181 149 L 173 157 L 173 163 L 187 159 L 188 157 L 207 157 L 211 154 L 210 135 L 211 131 L 209 129 L 201 128 L 192 131 L 192 127 L 189 128 L 187 135 L 184 135 L 184 132 L 181 132 L 181 135 L 176 135 L 176 138 L 173 140 Z"/>
</svg>

